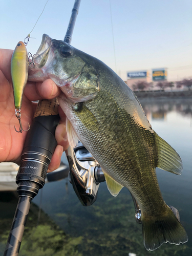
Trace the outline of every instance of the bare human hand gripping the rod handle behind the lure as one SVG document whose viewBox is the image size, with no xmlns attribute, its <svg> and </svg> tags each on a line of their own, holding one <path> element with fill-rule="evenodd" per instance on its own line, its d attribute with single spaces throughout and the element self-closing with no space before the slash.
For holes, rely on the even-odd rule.
<svg viewBox="0 0 192 256">
<path fill-rule="evenodd" d="M 12 80 L 10 73 L 10 63 L 12 50 L 0 49 L 0 162 L 20 163 L 21 154 L 25 142 L 27 132 L 16 133 L 18 130 L 18 120 L 15 116 L 15 106 L 13 98 Z M 44 82 L 27 82 L 23 95 L 22 103 L 22 125 L 23 129 L 28 129 L 28 123 L 32 123 L 32 119 L 36 109 L 36 100 L 53 99 L 60 94 L 59 88 L 51 80 Z M 62 121 L 57 126 L 55 138 L 58 145 L 52 156 L 48 172 L 59 167 L 62 152 L 67 150 L 69 144 L 67 140 L 65 118 L 62 115 Z"/>
</svg>

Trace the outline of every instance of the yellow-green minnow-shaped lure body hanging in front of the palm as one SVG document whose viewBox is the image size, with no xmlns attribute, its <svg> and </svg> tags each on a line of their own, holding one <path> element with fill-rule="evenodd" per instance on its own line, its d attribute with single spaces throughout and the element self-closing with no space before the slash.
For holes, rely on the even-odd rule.
<svg viewBox="0 0 192 256">
<path fill-rule="evenodd" d="M 11 58 L 11 77 L 15 109 L 22 107 L 24 88 L 28 79 L 28 52 L 23 41 L 19 41 Z"/>
</svg>

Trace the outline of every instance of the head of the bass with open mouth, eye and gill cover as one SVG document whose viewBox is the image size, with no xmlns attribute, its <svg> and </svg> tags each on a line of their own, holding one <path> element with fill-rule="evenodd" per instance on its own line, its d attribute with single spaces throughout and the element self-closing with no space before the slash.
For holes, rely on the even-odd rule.
<svg viewBox="0 0 192 256">
<path fill-rule="evenodd" d="M 88 55 L 89 56 L 89 55 Z M 29 71 L 29 81 L 51 78 L 63 97 L 72 102 L 93 99 L 99 91 L 99 75 L 88 57 L 62 40 L 44 34 L 34 55 L 35 69 Z"/>
</svg>

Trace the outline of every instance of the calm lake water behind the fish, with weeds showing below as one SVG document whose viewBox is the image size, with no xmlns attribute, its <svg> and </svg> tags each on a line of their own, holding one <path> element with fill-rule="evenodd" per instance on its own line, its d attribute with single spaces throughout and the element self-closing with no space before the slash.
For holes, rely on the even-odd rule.
<svg viewBox="0 0 192 256">
<path fill-rule="evenodd" d="M 133 201 L 126 188 L 114 198 L 106 184 L 101 183 L 97 201 L 83 207 L 65 179 L 46 184 L 33 200 L 19 256 L 192 254 L 192 99 L 140 101 L 153 129 L 183 160 L 181 176 L 157 168 L 157 177 L 164 200 L 179 210 L 189 241 L 179 246 L 163 244 L 155 251 L 146 251 L 141 225 L 135 222 Z M 17 198 L 13 193 L 1 193 L 0 197 L 2 255 Z"/>
</svg>

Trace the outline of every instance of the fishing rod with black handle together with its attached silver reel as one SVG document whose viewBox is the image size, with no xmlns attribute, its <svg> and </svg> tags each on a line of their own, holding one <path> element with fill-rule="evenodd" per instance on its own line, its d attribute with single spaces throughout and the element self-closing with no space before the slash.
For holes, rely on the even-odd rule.
<svg viewBox="0 0 192 256">
<path fill-rule="evenodd" d="M 68 44 L 71 43 L 79 5 L 80 0 L 75 0 L 67 33 L 64 38 L 64 41 L 68 42 Z M 16 176 L 19 200 L 4 256 L 18 255 L 31 201 L 38 194 L 38 190 L 45 184 L 48 166 L 57 145 L 54 135 L 58 123 L 57 98 L 40 100 L 30 131 L 26 136 L 22 160 Z M 70 165 L 69 178 L 73 184 L 73 188 L 82 205 L 89 206 L 95 202 L 99 184 L 105 181 L 105 179 L 102 169 L 88 151 L 87 157 L 82 157 L 81 153 L 85 150 L 86 148 L 82 144 L 78 145 L 74 150 L 69 147 L 66 155 Z M 84 176 L 82 175 L 82 171 Z M 87 174 L 89 174 L 89 178 Z M 136 201 L 135 207 L 138 208 Z"/>
</svg>

